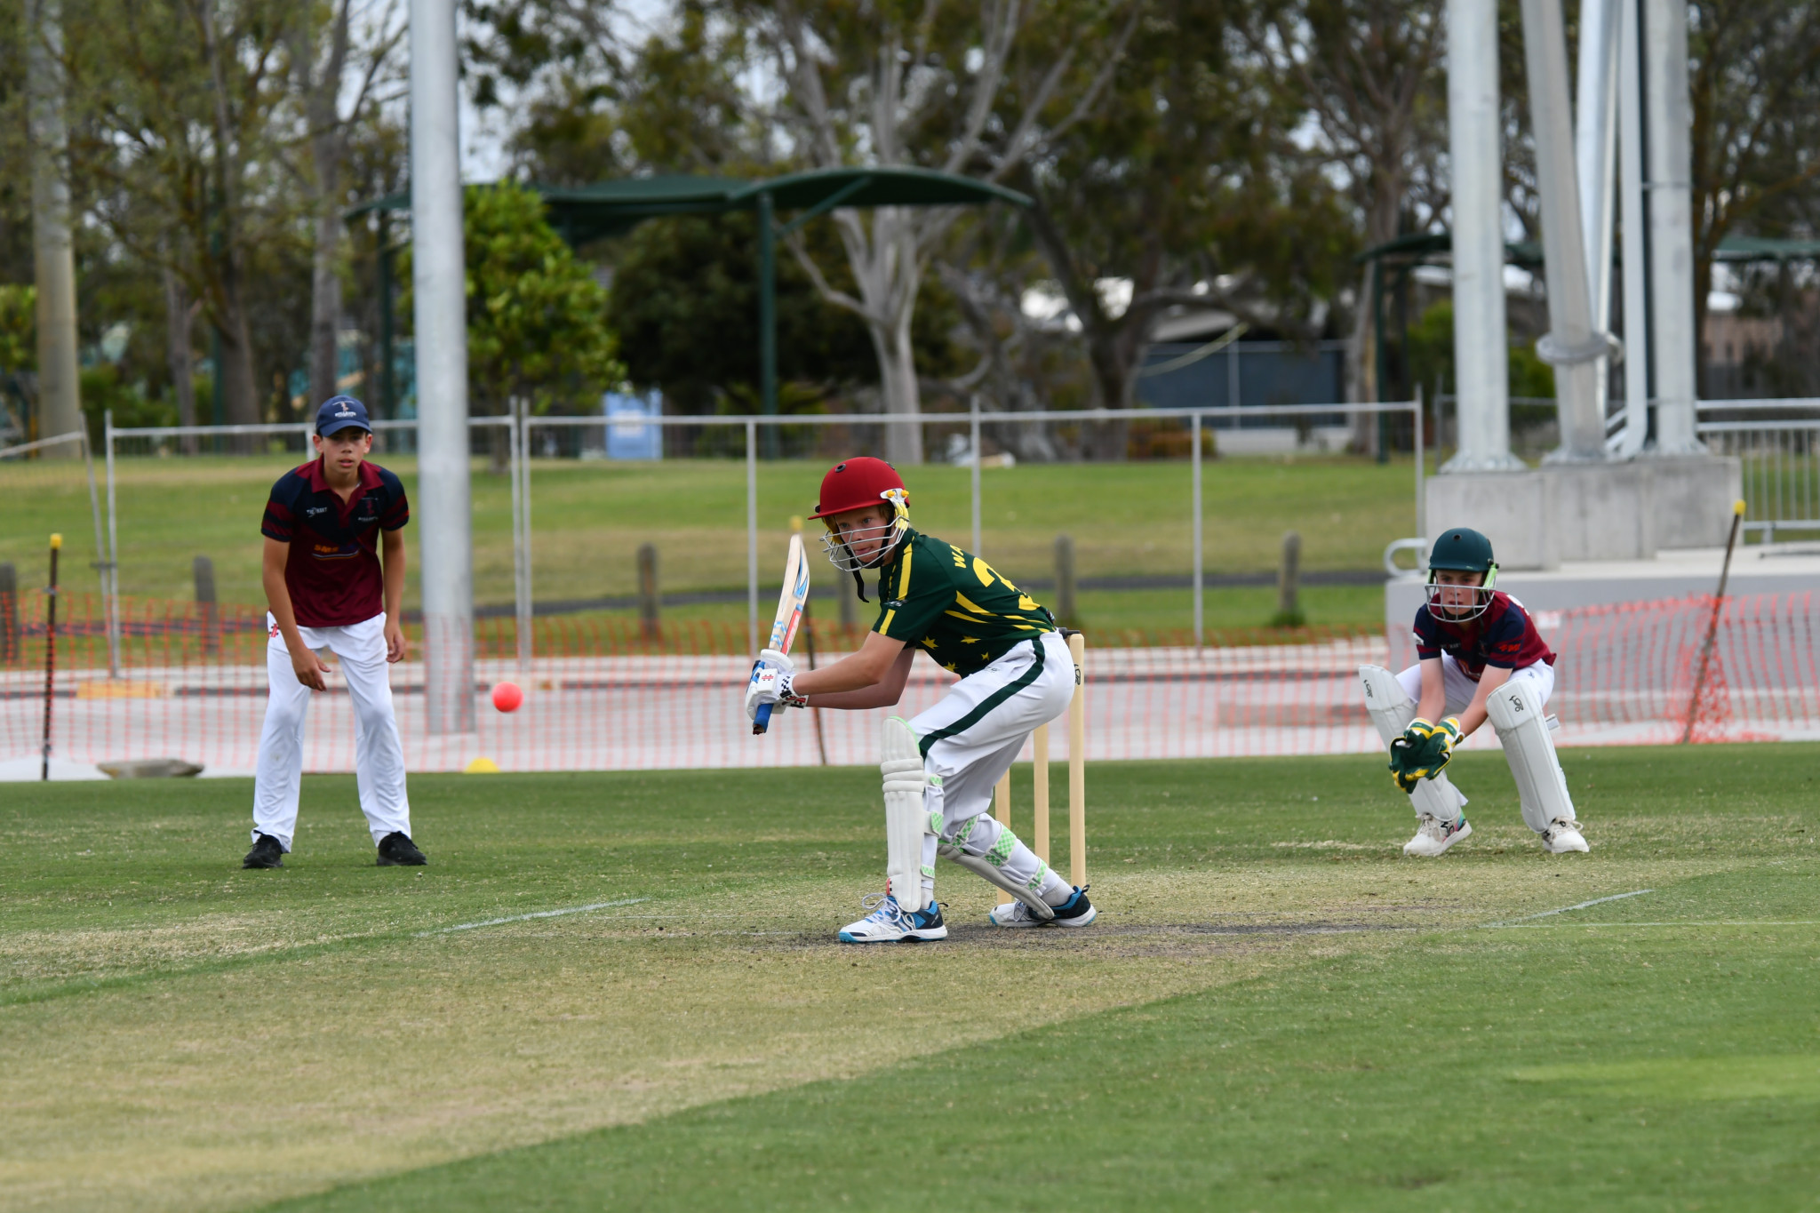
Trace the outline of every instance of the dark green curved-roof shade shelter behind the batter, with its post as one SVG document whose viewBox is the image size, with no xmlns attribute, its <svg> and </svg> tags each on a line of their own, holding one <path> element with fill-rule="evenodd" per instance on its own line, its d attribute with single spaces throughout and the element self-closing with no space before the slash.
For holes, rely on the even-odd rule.
<svg viewBox="0 0 1820 1213">
<path fill-rule="evenodd" d="M 648 218 L 672 215 L 759 213 L 759 366 L 764 413 L 777 413 L 777 273 L 775 240 L 837 207 L 881 206 L 986 206 L 1008 202 L 1028 207 L 1030 198 L 992 182 L 956 173 L 915 167 L 814 169 L 748 182 L 732 176 L 622 176 L 593 185 L 539 185 L 550 226 L 570 244 L 582 246 L 622 236 Z M 395 193 L 364 202 L 346 213 L 410 211 L 411 195 Z M 779 226 L 777 211 L 797 211 Z M 389 273 L 382 273 L 389 282 Z M 389 289 L 382 300 L 389 333 Z M 389 367 L 389 355 L 386 366 Z M 389 393 L 388 393 L 389 395 Z M 389 398 L 388 398 L 389 407 Z M 774 431 L 766 431 L 775 438 Z"/>
</svg>

